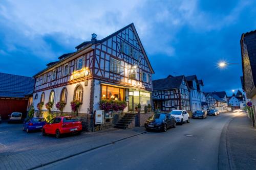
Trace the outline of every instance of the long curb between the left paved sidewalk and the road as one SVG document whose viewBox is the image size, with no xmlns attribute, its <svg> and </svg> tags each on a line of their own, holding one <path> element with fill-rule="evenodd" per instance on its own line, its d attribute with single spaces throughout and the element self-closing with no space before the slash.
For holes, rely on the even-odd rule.
<svg viewBox="0 0 256 170">
<path fill-rule="evenodd" d="M 141 132 L 141 133 L 138 133 L 138 134 L 136 134 L 136 135 L 132 135 L 132 136 L 128 136 L 128 137 L 124 137 L 124 138 L 118 139 L 118 140 L 114 140 L 114 141 L 112 141 L 112 142 L 99 145 L 98 147 L 94 147 L 94 148 L 91 148 L 91 149 L 88 149 L 88 150 L 85 150 L 85 151 L 81 151 L 81 152 L 78 152 L 78 153 L 76 153 L 76 154 L 72 154 L 72 155 L 69 155 L 69 156 L 66 156 L 66 157 L 63 157 L 63 158 L 60 158 L 60 159 L 56 159 L 56 160 L 51 161 L 51 162 L 43 163 L 43 164 L 34 166 L 34 167 L 32 167 L 32 168 L 28 168 L 28 169 L 36 169 L 36 168 L 39 168 L 39 167 L 44 167 L 44 166 L 46 166 L 46 165 L 49 165 L 49 164 L 52 164 L 52 163 L 55 163 L 55 162 L 59 162 L 59 161 L 62 161 L 62 160 L 65 160 L 65 159 L 68 159 L 68 158 L 71 158 L 71 157 L 74 157 L 74 156 L 83 154 L 83 153 L 87 153 L 87 152 L 89 152 L 89 151 L 93 151 L 93 150 L 96 150 L 96 149 L 99 149 L 99 148 L 102 148 L 102 147 L 105 147 L 105 146 L 114 144 L 114 143 L 116 143 L 116 142 L 119 142 L 119 141 L 122 141 L 122 140 L 125 140 L 125 139 L 129 139 L 129 138 L 132 138 L 132 137 L 135 137 L 135 136 L 142 135 L 142 134 L 144 134 L 144 133 L 147 133 L 147 132 Z"/>
</svg>

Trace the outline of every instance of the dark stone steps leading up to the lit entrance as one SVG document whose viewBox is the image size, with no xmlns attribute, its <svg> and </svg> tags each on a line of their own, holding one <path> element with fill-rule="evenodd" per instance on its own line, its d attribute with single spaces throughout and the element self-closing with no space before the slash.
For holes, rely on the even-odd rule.
<svg viewBox="0 0 256 170">
<path fill-rule="evenodd" d="M 127 129 L 131 125 L 131 123 L 134 123 L 135 121 L 135 113 L 125 113 L 115 124 L 114 128 L 118 129 Z"/>
</svg>

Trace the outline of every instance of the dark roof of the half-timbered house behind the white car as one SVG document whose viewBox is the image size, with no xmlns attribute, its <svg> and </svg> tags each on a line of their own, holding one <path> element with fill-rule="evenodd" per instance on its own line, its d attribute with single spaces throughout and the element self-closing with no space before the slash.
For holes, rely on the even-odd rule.
<svg viewBox="0 0 256 170">
<path fill-rule="evenodd" d="M 167 77 L 165 79 L 153 80 L 153 90 L 167 90 L 180 88 L 185 76 Z"/>
</svg>

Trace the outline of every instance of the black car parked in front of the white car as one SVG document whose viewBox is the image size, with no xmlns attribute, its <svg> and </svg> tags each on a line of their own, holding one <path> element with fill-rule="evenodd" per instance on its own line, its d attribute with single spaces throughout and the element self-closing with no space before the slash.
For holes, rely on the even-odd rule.
<svg viewBox="0 0 256 170">
<path fill-rule="evenodd" d="M 154 129 L 165 132 L 168 128 L 176 128 L 175 117 L 166 113 L 156 113 L 145 122 L 146 130 Z"/>
</svg>

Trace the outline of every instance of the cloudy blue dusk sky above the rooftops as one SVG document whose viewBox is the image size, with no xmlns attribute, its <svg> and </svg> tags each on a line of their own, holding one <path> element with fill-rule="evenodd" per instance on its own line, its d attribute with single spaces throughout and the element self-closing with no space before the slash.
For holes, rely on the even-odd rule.
<svg viewBox="0 0 256 170">
<path fill-rule="evenodd" d="M 241 88 L 241 34 L 256 29 L 256 1 L 1 1 L 0 72 L 33 76 L 75 46 L 134 22 L 155 70 L 197 75 L 204 91 Z"/>
</svg>

